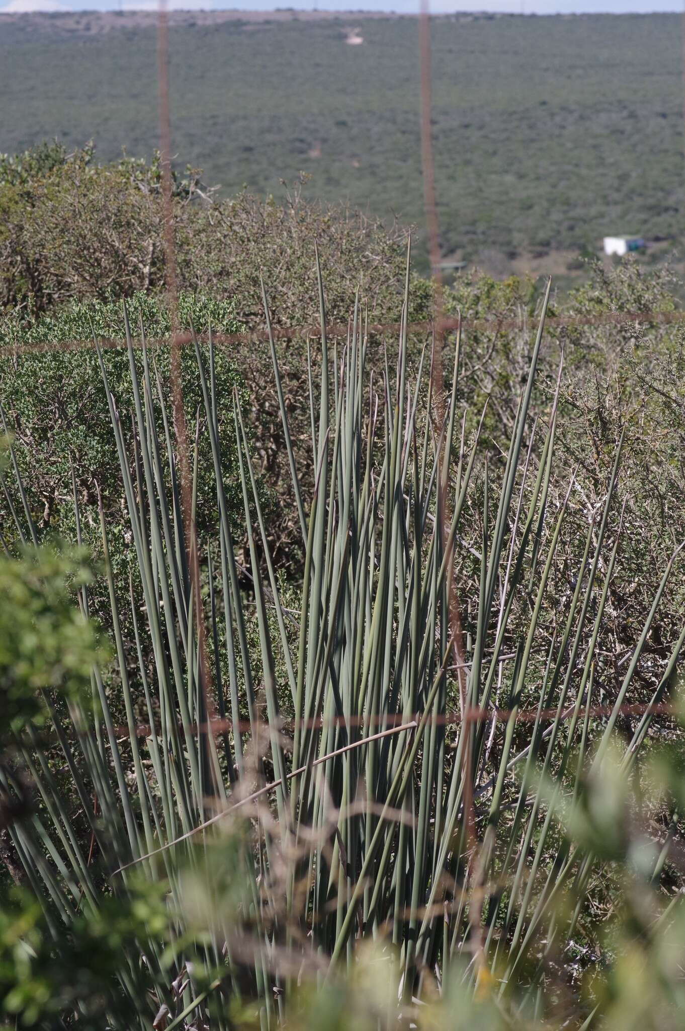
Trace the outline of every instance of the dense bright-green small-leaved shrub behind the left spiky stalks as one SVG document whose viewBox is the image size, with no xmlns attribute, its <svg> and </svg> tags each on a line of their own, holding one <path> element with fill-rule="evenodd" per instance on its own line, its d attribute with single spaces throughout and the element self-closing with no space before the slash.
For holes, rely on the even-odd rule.
<svg viewBox="0 0 685 1031">
<path fill-rule="evenodd" d="M 139 336 L 142 322 L 145 336 L 152 342 L 160 388 L 169 392 L 170 354 L 167 339 L 170 332 L 166 302 L 160 298 L 135 294 L 127 309 L 132 332 Z M 182 293 L 178 299 L 182 326 L 195 326 L 206 331 L 211 326 L 217 332 L 236 332 L 241 326 L 231 301 L 213 301 Z M 75 533 L 72 470 L 75 490 L 81 506 L 83 540 L 96 552 L 99 543 L 98 489 L 103 498 L 112 535 L 112 561 L 128 565 L 131 557 L 127 542 L 126 501 L 123 492 L 116 446 L 109 425 L 109 409 L 98 357 L 93 345 L 71 350 L 60 348 L 73 340 L 117 340 L 118 345 L 105 351 L 105 365 L 110 389 L 115 392 L 123 432 L 131 434 L 133 393 L 129 357 L 123 345 L 123 307 L 121 302 L 78 302 L 58 311 L 30 321 L 19 312 L 0 320 L 0 345 L 16 352 L 0 370 L 0 402 L 5 424 L 14 439 L 14 455 L 26 484 L 27 504 L 37 537 L 69 537 Z M 157 341 L 157 342 L 155 342 Z M 47 348 L 41 351 L 41 344 Z M 35 347 L 35 350 L 33 350 Z M 140 353 L 138 368 L 141 370 Z M 182 388 L 190 432 L 194 430 L 201 394 L 196 375 L 195 356 L 187 347 L 181 359 Z M 227 351 L 215 357 L 217 402 L 222 422 L 230 420 L 233 392 L 241 392 L 245 400 L 244 383 L 233 358 Z M 157 385 L 155 386 L 157 390 Z M 240 502 L 236 479 L 237 465 L 231 424 L 226 434 L 222 461 L 227 476 L 229 510 L 236 527 L 236 502 Z M 158 422 L 158 432 L 163 425 Z M 171 427 L 173 432 L 173 427 Z M 213 479 L 207 477 L 207 441 L 201 436 L 203 461 L 198 485 L 199 529 L 204 533 L 212 523 L 216 497 Z M 168 468 L 162 470 L 170 489 Z M 21 505 L 19 496 L 14 503 Z M 0 500 L 5 519 L 7 497 Z M 240 525 L 238 514 L 237 527 Z"/>
</svg>

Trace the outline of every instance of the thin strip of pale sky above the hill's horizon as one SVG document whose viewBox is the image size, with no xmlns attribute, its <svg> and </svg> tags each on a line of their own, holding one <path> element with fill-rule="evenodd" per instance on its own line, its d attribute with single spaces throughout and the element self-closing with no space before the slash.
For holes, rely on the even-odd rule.
<svg viewBox="0 0 685 1031">
<path fill-rule="evenodd" d="M 321 10 L 393 10 L 412 12 L 418 0 L 169 0 L 170 7 L 273 10 L 274 7 Z M 148 9 L 155 0 L 0 0 L 0 13 L 8 10 L 115 10 L 121 7 Z M 683 10 L 683 0 L 431 0 L 436 13 L 456 10 L 487 10 L 526 14 L 613 14 Z"/>
</svg>

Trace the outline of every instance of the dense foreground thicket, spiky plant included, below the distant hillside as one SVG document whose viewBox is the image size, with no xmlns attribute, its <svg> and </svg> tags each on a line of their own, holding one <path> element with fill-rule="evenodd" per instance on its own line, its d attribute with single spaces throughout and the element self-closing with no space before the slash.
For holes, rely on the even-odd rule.
<svg viewBox="0 0 685 1031">
<path fill-rule="evenodd" d="M 30 205 L 80 167 L 105 192 L 142 182 L 159 219 L 155 166 L 65 158 L 8 161 L 5 187 Z M 177 184 L 179 222 L 194 203 Z M 436 383 L 407 319 L 431 286 L 402 274 L 397 234 L 266 210 L 242 296 L 230 268 L 181 278 L 204 334 L 183 353 L 192 512 L 162 269 L 112 297 L 105 262 L 66 294 L 4 266 L 6 1021 L 680 1026 L 682 734 L 622 710 L 679 704 L 683 334 L 651 318 L 674 308 L 667 273 L 591 269 L 564 311 L 644 318 L 567 330 L 530 284 L 459 278 Z M 321 220 L 352 250 L 317 274 Z M 274 281 L 275 325 L 347 334 L 222 346 L 271 322 L 277 273 L 303 315 Z M 367 293 L 396 335 L 367 334 Z M 121 340 L 124 296 L 118 347 L 25 351 Z"/>
</svg>

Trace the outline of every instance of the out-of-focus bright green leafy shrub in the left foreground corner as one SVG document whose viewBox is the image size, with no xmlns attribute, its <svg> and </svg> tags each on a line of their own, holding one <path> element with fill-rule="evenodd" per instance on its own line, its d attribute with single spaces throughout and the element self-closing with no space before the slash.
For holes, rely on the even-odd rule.
<svg viewBox="0 0 685 1031">
<path fill-rule="evenodd" d="M 92 584 L 92 570 L 77 554 L 48 548 L 27 551 L 19 558 L 0 557 L 0 1024 L 56 1028 L 78 1015 L 78 1026 L 101 1029 L 112 1015 L 135 1024 L 135 988 L 149 987 L 144 969 L 136 972 L 139 942 L 163 934 L 167 920 L 160 893 L 135 888 L 126 900 L 100 892 L 85 865 L 85 897 L 72 897 L 66 927 L 58 909 L 40 900 L 42 856 L 23 866 L 23 844 L 39 826 L 36 784 L 22 758 L 21 742 L 38 747 L 42 776 L 64 792 L 59 811 L 71 803 L 70 790 L 60 777 L 58 754 L 49 736 L 63 719 L 65 702 L 72 712 L 90 711 L 94 664 L 108 661 L 108 648 L 94 623 L 74 603 L 75 592 Z M 78 718 L 77 718 L 78 719 Z M 64 757 L 62 756 L 62 762 Z M 71 785 L 73 791 L 73 781 Z M 60 803 L 58 803 L 60 804 Z M 53 810 L 55 811 L 55 810 Z M 59 818 L 58 818 L 59 820 Z M 67 827 L 65 832 L 64 827 Z M 77 824 L 61 826 L 60 846 L 74 860 Z M 8 828 L 10 830 L 8 831 Z M 73 850 L 76 850 L 75 852 Z M 54 852 L 57 858 L 58 853 Z M 64 865 L 60 866 L 66 873 Z M 15 880 L 7 884 L 6 873 Z M 58 873 L 58 877 L 61 874 Z M 67 880 L 69 875 L 67 875 Z M 44 882 L 43 882 L 44 884 Z M 38 894 L 36 894 L 38 889 Z M 49 891 L 48 891 L 49 896 Z M 127 957 L 130 963 L 126 968 Z M 122 979 L 128 992 L 122 987 Z"/>
</svg>

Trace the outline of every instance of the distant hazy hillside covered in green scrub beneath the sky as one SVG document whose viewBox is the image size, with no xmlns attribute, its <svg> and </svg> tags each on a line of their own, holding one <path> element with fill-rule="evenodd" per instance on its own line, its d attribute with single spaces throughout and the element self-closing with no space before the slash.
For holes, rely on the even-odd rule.
<svg viewBox="0 0 685 1031">
<path fill-rule="evenodd" d="M 408 16 L 173 12 L 179 164 L 234 192 L 307 190 L 422 223 L 418 42 Z M 158 137 L 156 15 L 0 16 L 0 149 Z M 445 255 L 574 272 L 605 234 L 685 232 L 677 15 L 440 18 L 436 179 Z M 349 45 L 354 42 L 354 45 Z"/>
</svg>

